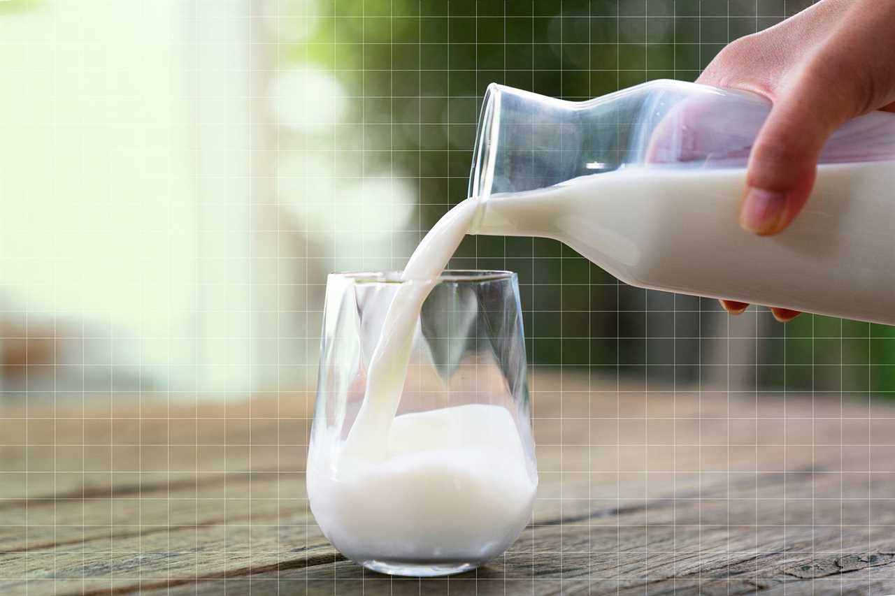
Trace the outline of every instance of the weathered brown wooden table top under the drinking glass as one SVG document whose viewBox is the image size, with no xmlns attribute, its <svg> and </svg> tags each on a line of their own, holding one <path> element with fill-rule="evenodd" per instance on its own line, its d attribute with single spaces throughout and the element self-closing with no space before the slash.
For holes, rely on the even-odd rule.
<svg viewBox="0 0 895 596">
<path fill-rule="evenodd" d="M 422 581 L 362 570 L 314 524 L 309 395 L 7 404 L 0 593 L 895 593 L 895 404 L 532 387 L 533 524 Z"/>
</svg>

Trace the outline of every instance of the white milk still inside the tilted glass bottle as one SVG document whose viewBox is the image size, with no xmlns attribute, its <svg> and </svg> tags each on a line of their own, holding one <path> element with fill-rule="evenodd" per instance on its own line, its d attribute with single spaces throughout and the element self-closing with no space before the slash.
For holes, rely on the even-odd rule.
<svg viewBox="0 0 895 596">
<path fill-rule="evenodd" d="M 641 287 L 895 324 L 895 162 L 820 166 L 792 226 L 737 223 L 744 169 L 629 168 L 492 195 L 471 234 L 544 236 Z"/>
</svg>

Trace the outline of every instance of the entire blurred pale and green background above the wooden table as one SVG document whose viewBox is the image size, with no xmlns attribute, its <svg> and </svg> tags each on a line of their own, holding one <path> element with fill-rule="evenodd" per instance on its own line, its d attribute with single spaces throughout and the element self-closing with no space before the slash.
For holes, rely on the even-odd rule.
<svg viewBox="0 0 895 596">
<path fill-rule="evenodd" d="M 0 3 L 0 389 L 312 390 L 326 274 L 401 268 L 465 199 L 490 82 L 574 100 L 694 81 L 808 4 Z M 893 328 L 729 317 L 550 240 L 469 237 L 452 266 L 518 272 L 535 366 L 895 392 Z"/>
</svg>

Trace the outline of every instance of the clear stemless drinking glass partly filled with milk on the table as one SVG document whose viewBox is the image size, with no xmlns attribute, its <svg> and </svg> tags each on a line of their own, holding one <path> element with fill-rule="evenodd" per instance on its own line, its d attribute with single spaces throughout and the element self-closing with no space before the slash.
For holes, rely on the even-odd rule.
<svg viewBox="0 0 895 596">
<path fill-rule="evenodd" d="M 430 294 L 403 393 L 386 445 L 357 456 L 345 440 L 386 311 L 407 284 Z M 328 277 L 307 486 L 329 541 L 374 571 L 460 573 L 516 540 L 531 519 L 537 470 L 515 273 Z"/>
</svg>

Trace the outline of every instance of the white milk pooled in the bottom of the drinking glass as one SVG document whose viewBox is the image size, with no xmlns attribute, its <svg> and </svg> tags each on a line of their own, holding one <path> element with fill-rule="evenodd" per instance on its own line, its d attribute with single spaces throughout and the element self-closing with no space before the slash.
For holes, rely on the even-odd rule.
<svg viewBox="0 0 895 596">
<path fill-rule="evenodd" d="M 401 414 L 384 457 L 333 474 L 340 455 L 323 449 L 308 462 L 308 497 L 337 549 L 374 568 L 481 565 L 507 549 L 532 514 L 536 481 L 516 422 L 498 405 Z"/>
</svg>

